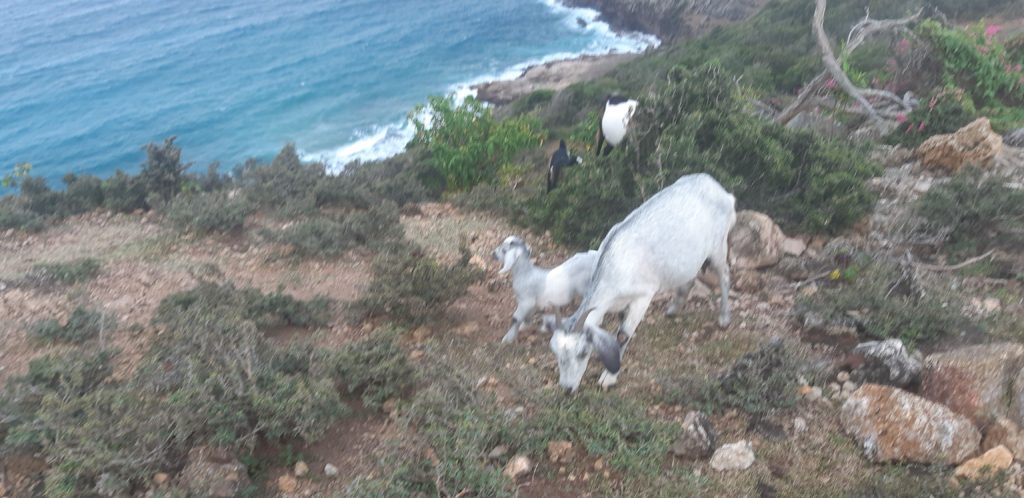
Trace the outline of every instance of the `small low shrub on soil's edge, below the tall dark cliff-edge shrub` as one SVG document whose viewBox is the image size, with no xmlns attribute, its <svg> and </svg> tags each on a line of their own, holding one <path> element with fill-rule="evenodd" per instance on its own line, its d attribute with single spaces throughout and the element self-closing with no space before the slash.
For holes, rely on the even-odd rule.
<svg viewBox="0 0 1024 498">
<path fill-rule="evenodd" d="M 198 235 L 226 234 L 242 229 L 252 206 L 242 196 L 224 192 L 182 194 L 165 214 L 175 227 Z"/>
</svg>

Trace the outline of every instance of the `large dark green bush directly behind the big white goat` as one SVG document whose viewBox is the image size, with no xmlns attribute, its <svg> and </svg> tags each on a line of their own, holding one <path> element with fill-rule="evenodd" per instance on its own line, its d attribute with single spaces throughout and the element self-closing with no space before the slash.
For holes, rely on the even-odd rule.
<svg viewBox="0 0 1024 498">
<path fill-rule="evenodd" d="M 881 168 L 863 150 L 753 117 L 741 90 L 715 65 L 672 71 L 641 99 L 621 151 L 566 170 L 564 186 L 529 205 L 530 223 L 559 242 L 593 245 L 643 200 L 696 172 L 785 230 L 837 233 L 869 212 L 865 180 Z"/>
</svg>

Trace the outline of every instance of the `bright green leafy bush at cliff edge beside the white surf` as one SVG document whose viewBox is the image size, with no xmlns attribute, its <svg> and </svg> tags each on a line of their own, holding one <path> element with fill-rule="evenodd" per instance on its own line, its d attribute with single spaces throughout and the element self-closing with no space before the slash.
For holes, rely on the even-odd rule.
<svg viewBox="0 0 1024 498">
<path fill-rule="evenodd" d="M 537 119 L 518 116 L 497 121 L 489 108 L 472 97 L 456 106 L 454 95 L 431 96 L 428 108 L 429 126 L 418 117 L 422 108 L 412 114 L 416 137 L 411 146 L 430 153 L 430 164 L 444 177 L 449 191 L 494 180 L 515 154 L 545 137 Z"/>
</svg>

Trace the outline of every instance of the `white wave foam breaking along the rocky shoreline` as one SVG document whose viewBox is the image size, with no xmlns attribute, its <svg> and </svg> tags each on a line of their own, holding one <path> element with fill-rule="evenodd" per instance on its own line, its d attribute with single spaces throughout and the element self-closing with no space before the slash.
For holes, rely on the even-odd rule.
<svg viewBox="0 0 1024 498">
<path fill-rule="evenodd" d="M 579 52 L 557 52 L 544 57 L 529 59 L 514 65 L 497 74 L 482 75 L 468 81 L 456 83 L 449 87 L 449 93 L 455 95 L 457 103 L 468 96 L 476 96 L 476 85 L 490 81 L 508 81 L 519 78 L 527 69 L 554 60 L 564 60 L 582 55 L 603 55 L 607 53 L 635 53 L 648 48 L 656 48 L 662 41 L 654 35 L 646 33 L 615 33 L 607 23 L 597 20 L 600 12 L 592 8 L 568 7 L 557 0 L 539 0 L 557 14 L 562 15 L 563 23 L 569 29 L 590 32 L 594 40 L 589 46 Z M 585 26 L 577 19 L 583 19 Z M 418 117 L 430 126 L 431 116 L 424 111 Z M 321 161 L 327 165 L 329 173 L 337 174 L 352 161 L 379 161 L 400 154 L 416 134 L 416 128 L 410 120 L 392 123 L 383 127 L 377 126 L 355 135 L 355 139 L 332 151 L 318 153 L 300 153 L 305 161 Z"/>
</svg>

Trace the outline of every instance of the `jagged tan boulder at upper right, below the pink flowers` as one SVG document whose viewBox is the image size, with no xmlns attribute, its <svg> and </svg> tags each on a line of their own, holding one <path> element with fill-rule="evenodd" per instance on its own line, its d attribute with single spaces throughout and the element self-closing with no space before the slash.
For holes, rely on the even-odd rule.
<svg viewBox="0 0 1024 498">
<path fill-rule="evenodd" d="M 918 158 L 928 169 L 955 173 L 967 165 L 986 167 L 1002 150 L 1002 137 L 988 118 L 978 118 L 955 133 L 935 135 L 918 147 Z"/>
</svg>

